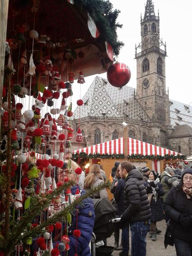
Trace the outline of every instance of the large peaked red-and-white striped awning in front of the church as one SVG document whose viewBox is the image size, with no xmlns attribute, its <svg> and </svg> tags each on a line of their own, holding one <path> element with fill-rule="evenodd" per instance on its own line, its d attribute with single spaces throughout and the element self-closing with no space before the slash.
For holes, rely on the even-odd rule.
<svg viewBox="0 0 192 256">
<path fill-rule="evenodd" d="M 158 147 L 147 142 L 142 142 L 137 139 L 127 138 L 128 155 L 141 154 L 141 155 L 182 155 L 172 150 L 167 150 L 163 147 Z M 119 139 L 110 140 L 100 144 L 75 150 L 75 153 L 85 152 L 86 154 L 124 154 L 124 137 Z"/>
</svg>

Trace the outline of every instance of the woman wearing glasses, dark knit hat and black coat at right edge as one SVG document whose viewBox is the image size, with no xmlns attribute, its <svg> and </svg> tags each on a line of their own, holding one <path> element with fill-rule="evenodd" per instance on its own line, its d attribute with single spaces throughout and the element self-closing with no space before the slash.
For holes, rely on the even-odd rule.
<svg viewBox="0 0 192 256">
<path fill-rule="evenodd" d="M 164 200 L 164 210 L 173 227 L 177 256 L 192 256 L 192 168 L 183 170 L 181 181 Z"/>
</svg>

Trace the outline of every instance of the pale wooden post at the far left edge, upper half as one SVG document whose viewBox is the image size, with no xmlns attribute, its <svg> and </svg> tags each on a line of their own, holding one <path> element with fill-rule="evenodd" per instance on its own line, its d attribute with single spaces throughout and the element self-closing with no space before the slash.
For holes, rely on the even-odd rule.
<svg viewBox="0 0 192 256">
<path fill-rule="evenodd" d="M 8 7 L 9 0 L 0 1 L 0 109 L 2 108 L 2 95 L 3 95 L 3 75 L 5 64 L 5 41 L 7 33 L 8 22 Z M 0 118 L 1 127 L 1 118 Z"/>
</svg>

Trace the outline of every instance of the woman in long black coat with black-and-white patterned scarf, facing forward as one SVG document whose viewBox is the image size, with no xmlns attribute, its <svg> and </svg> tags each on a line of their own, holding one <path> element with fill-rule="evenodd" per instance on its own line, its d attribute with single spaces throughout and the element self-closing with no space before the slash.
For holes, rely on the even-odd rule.
<svg viewBox="0 0 192 256">
<path fill-rule="evenodd" d="M 152 237 L 152 241 L 156 241 L 157 236 L 157 221 L 162 221 L 163 214 L 163 205 L 161 196 L 164 195 L 164 190 L 162 184 L 159 182 L 159 174 L 155 171 L 149 172 L 149 180 L 144 183 L 146 186 L 147 194 L 152 194 L 150 208 L 152 211 L 151 225 L 149 237 Z"/>
</svg>

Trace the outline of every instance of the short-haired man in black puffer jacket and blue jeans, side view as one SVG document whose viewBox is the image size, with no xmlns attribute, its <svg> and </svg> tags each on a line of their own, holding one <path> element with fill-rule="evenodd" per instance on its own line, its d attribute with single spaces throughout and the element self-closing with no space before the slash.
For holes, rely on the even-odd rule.
<svg viewBox="0 0 192 256">
<path fill-rule="evenodd" d="M 141 173 L 130 162 L 121 162 L 121 178 L 126 180 L 124 191 L 125 210 L 121 224 L 131 226 L 131 255 L 146 256 L 146 236 L 149 231 L 151 209 Z"/>
</svg>

